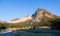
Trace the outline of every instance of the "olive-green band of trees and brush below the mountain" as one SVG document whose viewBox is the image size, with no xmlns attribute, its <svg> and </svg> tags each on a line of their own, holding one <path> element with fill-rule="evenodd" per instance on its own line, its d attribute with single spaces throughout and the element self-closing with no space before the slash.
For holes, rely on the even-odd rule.
<svg viewBox="0 0 60 36">
<path fill-rule="evenodd" d="M 20 23 L 6 23 L 2 24 L 0 23 L 0 29 L 6 29 L 6 28 L 39 28 L 43 26 L 49 26 L 52 28 L 60 29 L 60 18 L 58 19 L 45 19 L 42 22 L 20 22 Z"/>
</svg>

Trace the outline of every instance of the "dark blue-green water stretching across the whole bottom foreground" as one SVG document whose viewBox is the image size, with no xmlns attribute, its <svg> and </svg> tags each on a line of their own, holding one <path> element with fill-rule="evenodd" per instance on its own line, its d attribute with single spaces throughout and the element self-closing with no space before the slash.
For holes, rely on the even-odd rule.
<svg viewBox="0 0 60 36">
<path fill-rule="evenodd" d="M 18 31 L 17 33 L 5 33 L 0 34 L 0 36 L 60 36 L 60 32 L 57 33 L 51 33 L 51 32 L 40 32 L 40 33 L 34 33 L 34 32 L 26 32 L 26 31 Z"/>
</svg>

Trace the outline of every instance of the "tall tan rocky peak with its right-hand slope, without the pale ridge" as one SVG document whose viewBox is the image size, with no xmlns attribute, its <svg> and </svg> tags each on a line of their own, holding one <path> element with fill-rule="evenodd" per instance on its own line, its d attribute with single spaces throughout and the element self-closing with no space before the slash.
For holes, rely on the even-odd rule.
<svg viewBox="0 0 60 36">
<path fill-rule="evenodd" d="M 38 8 L 36 12 L 33 14 L 35 22 L 41 22 L 45 17 L 54 19 L 57 16 L 51 14 L 49 11 L 45 9 Z"/>
</svg>

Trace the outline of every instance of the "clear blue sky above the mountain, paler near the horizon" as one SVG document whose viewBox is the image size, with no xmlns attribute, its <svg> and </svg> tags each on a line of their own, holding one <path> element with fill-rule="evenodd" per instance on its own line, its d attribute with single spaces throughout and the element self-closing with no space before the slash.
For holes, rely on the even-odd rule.
<svg viewBox="0 0 60 36">
<path fill-rule="evenodd" d="M 0 19 L 22 18 L 33 14 L 37 8 L 60 16 L 60 0 L 0 0 Z"/>
</svg>

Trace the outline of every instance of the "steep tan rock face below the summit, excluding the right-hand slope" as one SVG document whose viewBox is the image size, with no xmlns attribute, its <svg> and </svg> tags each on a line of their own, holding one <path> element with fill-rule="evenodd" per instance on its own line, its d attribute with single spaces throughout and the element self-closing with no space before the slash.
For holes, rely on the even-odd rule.
<svg viewBox="0 0 60 36">
<path fill-rule="evenodd" d="M 41 21 L 41 19 L 43 18 L 44 16 L 44 10 L 43 9 L 40 9 L 38 8 L 34 14 L 34 19 L 36 22 L 39 22 Z"/>
</svg>

